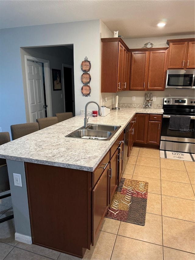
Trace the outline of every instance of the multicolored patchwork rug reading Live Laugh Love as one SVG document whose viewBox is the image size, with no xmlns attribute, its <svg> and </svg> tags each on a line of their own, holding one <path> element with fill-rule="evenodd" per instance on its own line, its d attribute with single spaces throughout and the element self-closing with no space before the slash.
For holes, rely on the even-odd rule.
<svg viewBox="0 0 195 260">
<path fill-rule="evenodd" d="M 148 182 L 121 178 L 105 217 L 144 226 Z"/>
</svg>

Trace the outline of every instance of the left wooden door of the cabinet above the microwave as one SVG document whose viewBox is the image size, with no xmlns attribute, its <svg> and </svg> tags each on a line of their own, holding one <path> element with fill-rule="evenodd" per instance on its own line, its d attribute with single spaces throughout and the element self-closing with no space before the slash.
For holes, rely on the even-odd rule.
<svg viewBox="0 0 195 260">
<path fill-rule="evenodd" d="M 168 69 L 184 69 L 187 42 L 169 43 Z"/>
</svg>

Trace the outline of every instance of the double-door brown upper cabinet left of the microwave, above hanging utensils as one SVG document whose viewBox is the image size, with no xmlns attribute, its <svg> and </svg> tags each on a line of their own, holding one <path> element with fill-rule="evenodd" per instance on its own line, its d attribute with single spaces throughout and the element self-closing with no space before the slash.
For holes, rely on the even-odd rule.
<svg viewBox="0 0 195 260">
<path fill-rule="evenodd" d="M 164 90 L 167 50 L 132 52 L 130 90 Z"/>
</svg>

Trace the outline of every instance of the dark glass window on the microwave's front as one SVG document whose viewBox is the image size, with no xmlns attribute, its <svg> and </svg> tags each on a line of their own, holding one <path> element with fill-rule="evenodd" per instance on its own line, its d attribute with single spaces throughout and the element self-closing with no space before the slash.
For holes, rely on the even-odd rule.
<svg viewBox="0 0 195 260">
<path fill-rule="evenodd" d="M 169 74 L 168 86 L 192 87 L 193 74 Z"/>
</svg>

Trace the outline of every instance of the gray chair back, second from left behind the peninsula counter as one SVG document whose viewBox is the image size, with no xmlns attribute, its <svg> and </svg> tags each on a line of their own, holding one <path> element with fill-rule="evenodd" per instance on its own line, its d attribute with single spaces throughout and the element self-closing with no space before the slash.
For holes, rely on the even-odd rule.
<svg viewBox="0 0 195 260">
<path fill-rule="evenodd" d="M 37 122 L 24 123 L 10 126 L 12 133 L 12 140 L 19 137 L 25 136 L 27 134 L 34 133 L 39 130 L 39 124 Z"/>
</svg>

